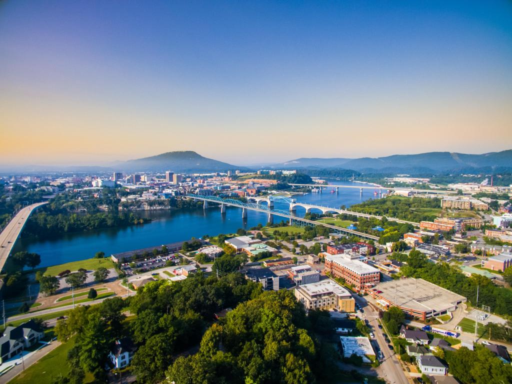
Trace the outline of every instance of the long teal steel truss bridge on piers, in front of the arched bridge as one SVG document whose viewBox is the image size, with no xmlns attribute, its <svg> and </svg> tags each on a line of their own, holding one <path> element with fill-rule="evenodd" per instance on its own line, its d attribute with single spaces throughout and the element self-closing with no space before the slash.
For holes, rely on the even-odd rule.
<svg viewBox="0 0 512 384">
<path fill-rule="evenodd" d="M 350 233 L 350 234 L 353 234 L 354 236 L 358 236 L 358 237 L 361 237 L 361 238 L 372 239 L 372 240 L 375 240 L 375 241 L 379 240 L 379 238 L 377 236 L 373 236 L 373 235 L 368 234 L 368 233 L 363 233 L 363 232 L 355 231 L 355 230 L 352 230 L 352 229 L 342 228 L 342 227 L 338 227 L 338 226 L 331 225 L 331 224 L 319 223 L 319 222 L 314 221 L 314 220 L 308 220 L 308 219 L 304 219 L 304 218 L 301 218 L 301 217 L 296 217 L 296 216 L 293 216 L 291 214 L 291 212 L 289 212 L 289 211 L 284 211 L 284 210 L 281 210 L 281 209 L 272 209 L 272 208 L 269 208 L 268 206 L 263 205 L 263 204 L 244 203 L 244 202 L 242 202 L 240 200 L 221 199 L 220 197 L 217 197 L 217 196 L 202 196 L 202 195 L 195 195 L 195 194 L 188 194 L 188 195 L 186 195 L 184 197 L 189 198 L 189 199 L 204 201 L 204 207 L 205 208 L 208 207 L 208 202 L 218 203 L 218 204 L 220 204 L 220 207 L 221 207 L 221 213 L 224 213 L 226 211 L 226 206 L 234 206 L 234 207 L 242 208 L 242 218 L 246 218 L 247 217 L 247 210 L 250 209 L 250 210 L 264 212 L 264 213 L 268 214 L 268 221 L 269 222 L 272 222 L 273 216 L 279 216 L 279 217 L 284 217 L 284 218 L 288 219 L 290 221 L 290 224 L 293 221 L 298 221 L 298 222 L 306 223 L 306 224 L 309 224 L 309 225 L 322 225 L 324 227 L 333 229 L 336 232 L 346 232 L 346 233 Z M 283 198 L 283 199 L 288 199 L 289 201 L 295 200 L 295 199 L 290 199 L 290 198 Z M 285 201 L 282 201 L 282 202 L 285 202 Z"/>
</svg>

